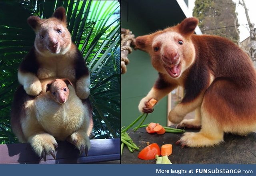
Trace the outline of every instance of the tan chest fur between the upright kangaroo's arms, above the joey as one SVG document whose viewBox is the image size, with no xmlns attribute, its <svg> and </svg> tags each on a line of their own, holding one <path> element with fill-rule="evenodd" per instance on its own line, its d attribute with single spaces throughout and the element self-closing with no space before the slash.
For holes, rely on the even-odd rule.
<svg viewBox="0 0 256 176">
<path fill-rule="evenodd" d="M 46 79 L 50 77 L 68 78 L 74 82 L 76 72 L 74 68 L 74 60 L 69 54 L 54 56 L 54 57 L 40 57 L 38 55 L 39 69 L 37 72 L 39 79 Z"/>
</svg>

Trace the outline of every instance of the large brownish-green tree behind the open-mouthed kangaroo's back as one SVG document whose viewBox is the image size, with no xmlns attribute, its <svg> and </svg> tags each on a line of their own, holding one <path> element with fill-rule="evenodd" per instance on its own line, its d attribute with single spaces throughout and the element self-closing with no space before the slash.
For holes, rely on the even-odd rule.
<svg viewBox="0 0 256 176">
<path fill-rule="evenodd" d="M 239 43 L 236 5 L 232 0 L 196 0 L 193 16 L 203 34 L 218 35 Z"/>
</svg>

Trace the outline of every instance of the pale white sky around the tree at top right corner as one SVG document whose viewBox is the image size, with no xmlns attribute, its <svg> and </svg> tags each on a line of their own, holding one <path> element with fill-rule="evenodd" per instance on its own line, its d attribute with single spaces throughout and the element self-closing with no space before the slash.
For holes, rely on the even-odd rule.
<svg viewBox="0 0 256 176">
<path fill-rule="evenodd" d="M 233 2 L 235 3 L 237 3 L 238 1 L 239 0 L 233 0 Z M 256 24 L 256 10 L 255 10 L 256 0 L 244 0 L 244 1 L 246 4 L 246 7 L 248 8 L 248 13 L 249 13 L 251 23 Z M 188 0 L 189 10 L 193 10 L 194 2 L 195 0 Z M 238 23 L 240 24 L 240 26 L 238 27 L 240 31 L 240 42 L 242 42 L 243 40 L 245 40 L 250 36 L 250 32 L 248 28 L 246 28 L 246 25 L 244 25 L 244 24 L 248 24 L 246 20 L 244 8 L 241 5 L 236 5 L 236 12 L 238 13 L 237 18 L 238 18 Z"/>
</svg>

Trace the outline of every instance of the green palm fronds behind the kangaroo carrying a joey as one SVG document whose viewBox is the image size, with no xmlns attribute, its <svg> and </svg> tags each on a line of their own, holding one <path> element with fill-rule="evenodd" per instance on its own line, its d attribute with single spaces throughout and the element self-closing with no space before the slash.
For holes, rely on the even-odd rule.
<svg viewBox="0 0 256 176">
<path fill-rule="evenodd" d="M 10 129 L 17 70 L 34 44 L 26 23 L 31 15 L 49 18 L 66 8 L 72 41 L 91 73 L 90 101 L 95 138 L 120 136 L 120 4 L 112 1 L 0 1 L 0 144 L 17 142 Z"/>
</svg>

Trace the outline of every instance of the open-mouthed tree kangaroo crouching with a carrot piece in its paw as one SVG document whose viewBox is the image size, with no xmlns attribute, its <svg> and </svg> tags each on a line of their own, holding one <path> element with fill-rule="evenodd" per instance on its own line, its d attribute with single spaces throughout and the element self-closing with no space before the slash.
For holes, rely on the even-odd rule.
<svg viewBox="0 0 256 176">
<path fill-rule="evenodd" d="M 186 94 L 170 112 L 169 120 L 179 123 L 178 127 L 202 125 L 200 132 L 185 133 L 178 141 L 191 147 L 219 144 L 224 132 L 244 135 L 256 130 L 252 61 L 225 38 L 194 35 L 197 23 L 196 18 L 186 18 L 174 27 L 136 38 L 136 47 L 150 54 L 159 71 L 154 91 L 141 100 L 139 110 L 143 111 L 145 101 L 159 100 L 176 86 L 183 86 Z M 182 121 L 195 109 L 195 120 Z"/>
</svg>

